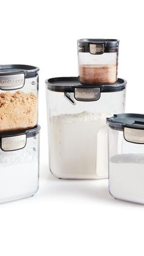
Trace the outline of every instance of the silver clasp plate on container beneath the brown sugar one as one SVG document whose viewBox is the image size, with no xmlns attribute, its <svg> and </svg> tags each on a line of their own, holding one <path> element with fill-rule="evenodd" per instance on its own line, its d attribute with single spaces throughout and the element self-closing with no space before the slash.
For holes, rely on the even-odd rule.
<svg viewBox="0 0 144 256">
<path fill-rule="evenodd" d="M 24 148 L 26 145 L 26 134 L 2 137 L 1 138 L 1 149 L 4 151 L 13 151 Z"/>
</svg>

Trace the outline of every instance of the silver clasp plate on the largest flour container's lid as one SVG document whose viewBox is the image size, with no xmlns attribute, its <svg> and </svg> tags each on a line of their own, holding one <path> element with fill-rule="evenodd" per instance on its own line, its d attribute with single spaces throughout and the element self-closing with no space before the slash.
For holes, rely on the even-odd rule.
<svg viewBox="0 0 144 256">
<path fill-rule="evenodd" d="M 79 101 L 99 100 L 101 95 L 100 88 L 75 88 L 74 98 Z"/>
</svg>

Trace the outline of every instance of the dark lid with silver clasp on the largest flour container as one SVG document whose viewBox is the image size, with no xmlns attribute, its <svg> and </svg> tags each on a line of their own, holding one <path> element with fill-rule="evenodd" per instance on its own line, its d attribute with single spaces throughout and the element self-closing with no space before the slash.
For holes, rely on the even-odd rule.
<svg viewBox="0 0 144 256">
<path fill-rule="evenodd" d="M 63 92 L 65 97 L 72 103 L 76 102 L 71 98 L 70 93 L 74 93 L 74 98 L 78 101 L 96 101 L 103 92 L 118 92 L 126 88 L 126 81 L 118 78 L 112 85 L 84 85 L 77 77 L 50 78 L 45 81 L 48 90 Z"/>
</svg>

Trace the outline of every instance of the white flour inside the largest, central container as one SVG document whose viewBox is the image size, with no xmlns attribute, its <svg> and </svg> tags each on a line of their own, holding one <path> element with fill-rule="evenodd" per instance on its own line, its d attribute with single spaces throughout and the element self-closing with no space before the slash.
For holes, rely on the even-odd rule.
<svg viewBox="0 0 144 256">
<path fill-rule="evenodd" d="M 50 169 L 59 178 L 107 178 L 107 125 L 112 113 L 61 114 L 49 123 Z"/>
</svg>

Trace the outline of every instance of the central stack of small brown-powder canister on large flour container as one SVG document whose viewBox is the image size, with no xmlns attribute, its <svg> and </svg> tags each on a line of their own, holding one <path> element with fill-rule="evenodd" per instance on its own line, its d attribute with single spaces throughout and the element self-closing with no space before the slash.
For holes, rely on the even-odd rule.
<svg viewBox="0 0 144 256">
<path fill-rule="evenodd" d="M 79 78 L 46 80 L 49 169 L 59 178 L 107 178 L 106 117 L 124 112 L 118 40 L 78 40 Z"/>
</svg>

